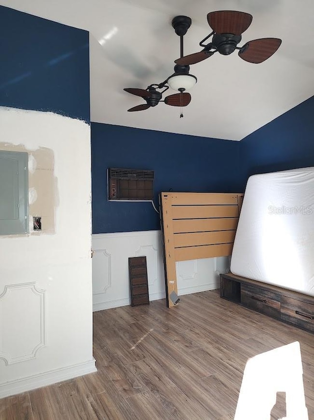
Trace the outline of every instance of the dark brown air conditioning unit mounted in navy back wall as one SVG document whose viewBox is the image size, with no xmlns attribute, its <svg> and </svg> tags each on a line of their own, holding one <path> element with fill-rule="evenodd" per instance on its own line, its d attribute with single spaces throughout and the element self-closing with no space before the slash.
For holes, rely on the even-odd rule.
<svg viewBox="0 0 314 420">
<path fill-rule="evenodd" d="M 108 168 L 109 201 L 152 201 L 154 171 Z"/>
</svg>

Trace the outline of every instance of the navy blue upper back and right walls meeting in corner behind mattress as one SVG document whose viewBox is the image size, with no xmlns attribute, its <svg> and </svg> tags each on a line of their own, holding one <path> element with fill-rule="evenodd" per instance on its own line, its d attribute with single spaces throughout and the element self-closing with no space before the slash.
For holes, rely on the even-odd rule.
<svg viewBox="0 0 314 420">
<path fill-rule="evenodd" d="M 160 191 L 244 191 L 253 174 L 314 166 L 314 97 L 240 142 L 91 124 L 93 233 L 157 230 L 150 203 L 106 199 L 106 169 L 155 171 Z"/>
</svg>

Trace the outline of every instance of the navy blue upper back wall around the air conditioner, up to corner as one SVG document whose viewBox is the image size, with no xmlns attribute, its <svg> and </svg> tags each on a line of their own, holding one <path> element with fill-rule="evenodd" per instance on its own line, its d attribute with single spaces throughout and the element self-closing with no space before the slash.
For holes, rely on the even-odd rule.
<svg viewBox="0 0 314 420">
<path fill-rule="evenodd" d="M 155 171 L 160 191 L 238 192 L 239 142 L 91 123 L 93 233 L 160 229 L 151 203 L 107 201 L 107 168 Z"/>
</svg>

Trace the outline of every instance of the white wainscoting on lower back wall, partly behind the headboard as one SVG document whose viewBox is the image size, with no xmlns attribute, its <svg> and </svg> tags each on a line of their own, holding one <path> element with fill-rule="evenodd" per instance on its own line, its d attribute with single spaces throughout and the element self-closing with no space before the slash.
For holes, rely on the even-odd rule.
<svg viewBox="0 0 314 420">
<path fill-rule="evenodd" d="M 93 310 L 130 305 L 129 257 L 146 256 L 150 300 L 165 298 L 160 231 L 92 236 Z M 177 263 L 178 295 L 219 287 L 216 258 Z"/>
</svg>

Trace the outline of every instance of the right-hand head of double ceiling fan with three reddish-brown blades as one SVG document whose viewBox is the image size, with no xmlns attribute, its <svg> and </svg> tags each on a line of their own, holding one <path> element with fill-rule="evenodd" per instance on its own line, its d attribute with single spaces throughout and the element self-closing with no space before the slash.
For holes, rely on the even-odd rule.
<svg viewBox="0 0 314 420">
<path fill-rule="evenodd" d="M 188 65 L 206 60 L 214 53 L 228 56 L 235 50 L 239 50 L 238 56 L 251 63 L 261 63 L 271 57 L 279 48 L 281 39 L 261 38 L 254 39 L 238 47 L 241 34 L 251 25 L 253 16 L 249 13 L 236 12 L 233 10 L 220 10 L 207 15 L 207 21 L 212 31 L 202 39 L 200 46 L 204 49 L 198 53 L 190 54 L 175 60 L 177 64 Z M 204 42 L 212 35 L 209 44 Z"/>
</svg>

